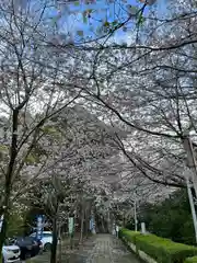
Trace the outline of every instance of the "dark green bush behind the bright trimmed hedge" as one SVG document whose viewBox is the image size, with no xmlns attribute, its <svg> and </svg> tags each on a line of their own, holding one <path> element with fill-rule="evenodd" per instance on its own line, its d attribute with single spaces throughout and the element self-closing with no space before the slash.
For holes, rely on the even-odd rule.
<svg viewBox="0 0 197 263">
<path fill-rule="evenodd" d="M 146 222 L 147 230 L 159 237 L 178 243 L 196 244 L 187 190 L 172 192 L 161 202 L 140 205 L 138 221 Z M 127 228 L 135 228 L 134 219 L 127 224 Z"/>
</svg>

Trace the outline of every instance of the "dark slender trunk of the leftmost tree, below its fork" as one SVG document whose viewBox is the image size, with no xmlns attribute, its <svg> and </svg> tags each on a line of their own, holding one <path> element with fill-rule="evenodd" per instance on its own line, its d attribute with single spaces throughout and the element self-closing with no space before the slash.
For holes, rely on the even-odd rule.
<svg viewBox="0 0 197 263">
<path fill-rule="evenodd" d="M 18 156 L 18 118 L 19 118 L 19 110 L 13 110 L 12 113 L 12 142 L 10 147 L 10 162 L 8 165 L 7 174 L 5 174 L 5 184 L 4 184 L 4 199 L 3 199 L 3 222 L 0 232 L 0 255 L 2 253 L 2 247 L 7 237 L 7 228 L 9 220 L 9 209 L 10 209 L 10 196 L 12 191 L 12 178 L 13 170 L 15 164 L 15 159 Z M 1 258 L 1 256 L 0 256 Z"/>
</svg>

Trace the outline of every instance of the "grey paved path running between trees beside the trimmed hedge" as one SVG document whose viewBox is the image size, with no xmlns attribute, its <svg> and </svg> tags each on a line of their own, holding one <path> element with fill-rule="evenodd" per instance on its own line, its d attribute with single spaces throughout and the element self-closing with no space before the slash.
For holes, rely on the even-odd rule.
<svg viewBox="0 0 197 263">
<path fill-rule="evenodd" d="M 86 253 L 79 263 L 140 263 L 120 240 L 109 235 L 96 235 L 93 242 L 89 240 L 83 244 L 82 251 Z"/>
</svg>

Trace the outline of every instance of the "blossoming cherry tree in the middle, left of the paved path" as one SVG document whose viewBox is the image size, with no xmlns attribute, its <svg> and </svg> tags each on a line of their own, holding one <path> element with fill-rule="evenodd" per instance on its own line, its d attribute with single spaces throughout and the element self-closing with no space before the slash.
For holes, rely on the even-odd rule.
<svg viewBox="0 0 197 263">
<path fill-rule="evenodd" d="M 94 199 L 101 188 L 111 193 L 111 185 L 119 179 L 124 167 L 114 159 L 119 153 L 114 146 L 114 130 L 80 105 L 54 114 L 40 133 L 42 138 L 34 144 L 21 170 L 23 187 L 15 191 L 13 199 L 18 197 L 19 202 L 46 210 L 55 237 L 50 262 L 56 262 L 61 225 L 67 225 L 69 215 L 78 216 L 82 242 Z M 38 195 L 35 188 L 39 188 Z"/>
</svg>

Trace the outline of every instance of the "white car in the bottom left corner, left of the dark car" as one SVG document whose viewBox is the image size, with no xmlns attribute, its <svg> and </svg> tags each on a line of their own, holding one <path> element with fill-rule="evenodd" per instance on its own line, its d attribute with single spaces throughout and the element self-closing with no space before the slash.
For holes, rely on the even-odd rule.
<svg viewBox="0 0 197 263">
<path fill-rule="evenodd" d="M 2 247 L 3 263 L 20 262 L 20 254 L 21 250 L 15 244 Z"/>
</svg>

